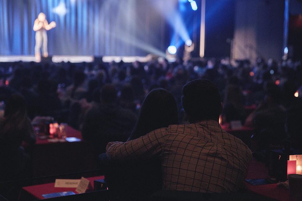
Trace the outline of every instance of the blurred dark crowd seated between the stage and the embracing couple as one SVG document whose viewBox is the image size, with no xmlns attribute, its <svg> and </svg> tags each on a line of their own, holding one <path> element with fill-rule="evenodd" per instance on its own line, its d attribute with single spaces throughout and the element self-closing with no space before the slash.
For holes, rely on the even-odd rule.
<svg viewBox="0 0 302 201">
<path fill-rule="evenodd" d="M 259 57 L 255 62 L 213 58 L 170 63 L 159 58 L 148 63 L 0 63 L 1 105 L 10 106 L 14 101 L 19 106 L 11 114 L 8 107 L 0 112 L 1 152 L 7 150 L 2 144 L 8 142 L 17 147 L 24 142 L 33 144 L 28 122 L 36 116 L 51 116 L 81 130 L 83 138 L 95 144 L 98 155 L 107 142 L 129 138 L 144 98 L 156 88 L 173 94 L 178 122 L 186 123 L 181 91 L 185 83 L 197 78 L 213 81 L 220 90 L 222 124 L 239 120 L 254 127 L 254 151 L 282 148 L 285 139 L 301 149 L 301 62 Z M 5 125 L 21 125 L 17 121 L 23 127 L 11 127 L 19 129 L 20 135 L 9 139 L 16 132 Z"/>
</svg>

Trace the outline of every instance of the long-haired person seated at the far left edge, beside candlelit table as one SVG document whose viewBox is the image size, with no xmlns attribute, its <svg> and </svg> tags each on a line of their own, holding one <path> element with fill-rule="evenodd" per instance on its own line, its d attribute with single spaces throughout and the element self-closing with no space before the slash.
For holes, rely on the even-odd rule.
<svg viewBox="0 0 302 201">
<path fill-rule="evenodd" d="M 6 101 L 4 117 L 0 118 L 0 181 L 30 176 L 30 150 L 36 141 L 26 103 L 19 94 Z"/>
</svg>

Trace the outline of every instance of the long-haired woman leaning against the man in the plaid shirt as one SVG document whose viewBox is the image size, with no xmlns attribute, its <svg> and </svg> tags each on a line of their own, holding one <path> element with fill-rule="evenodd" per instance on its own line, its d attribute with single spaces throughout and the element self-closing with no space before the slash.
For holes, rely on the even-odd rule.
<svg viewBox="0 0 302 201">
<path fill-rule="evenodd" d="M 136 126 L 129 140 L 147 133 L 178 124 L 178 112 L 173 95 L 162 88 L 152 90 L 143 101 Z M 161 161 L 155 157 L 135 163 L 112 164 L 105 169 L 105 177 L 111 195 L 128 200 L 146 200 L 162 190 Z"/>
</svg>

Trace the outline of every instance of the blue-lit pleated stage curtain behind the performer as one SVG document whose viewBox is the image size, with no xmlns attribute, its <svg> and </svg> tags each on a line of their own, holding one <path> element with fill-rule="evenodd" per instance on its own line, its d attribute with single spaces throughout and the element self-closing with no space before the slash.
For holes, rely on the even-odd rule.
<svg viewBox="0 0 302 201">
<path fill-rule="evenodd" d="M 165 50 L 165 20 L 149 0 L 0 0 L 0 55 L 34 55 L 40 12 L 50 55 L 145 56 Z M 57 8 L 65 4 L 64 9 Z M 56 11 L 59 11 L 56 13 Z"/>
</svg>

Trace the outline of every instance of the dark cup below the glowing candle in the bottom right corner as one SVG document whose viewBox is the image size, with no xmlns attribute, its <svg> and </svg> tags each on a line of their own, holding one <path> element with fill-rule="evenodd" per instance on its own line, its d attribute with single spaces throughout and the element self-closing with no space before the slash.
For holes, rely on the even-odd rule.
<svg viewBox="0 0 302 201">
<path fill-rule="evenodd" d="M 289 194 L 294 198 L 302 198 L 302 175 L 289 174 Z"/>
</svg>

